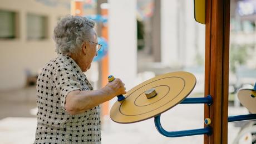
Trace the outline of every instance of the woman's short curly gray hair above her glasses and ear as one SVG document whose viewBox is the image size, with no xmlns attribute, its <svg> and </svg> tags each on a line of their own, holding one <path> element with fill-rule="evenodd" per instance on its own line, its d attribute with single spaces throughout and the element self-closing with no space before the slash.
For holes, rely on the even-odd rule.
<svg viewBox="0 0 256 144">
<path fill-rule="evenodd" d="M 56 53 L 76 53 L 85 42 L 96 34 L 93 30 L 95 22 L 80 16 L 63 17 L 53 31 L 53 40 L 56 43 Z"/>
</svg>

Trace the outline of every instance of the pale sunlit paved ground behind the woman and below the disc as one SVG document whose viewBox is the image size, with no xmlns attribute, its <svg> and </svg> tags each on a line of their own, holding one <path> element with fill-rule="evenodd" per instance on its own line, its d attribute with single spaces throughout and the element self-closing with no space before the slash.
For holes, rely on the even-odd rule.
<svg viewBox="0 0 256 144">
<path fill-rule="evenodd" d="M 36 130 L 35 88 L 0 92 L 0 143 L 33 143 Z M 166 130 L 203 127 L 203 105 L 178 105 L 161 116 Z M 229 115 L 245 114 L 243 107 L 229 107 Z M 228 140 L 232 143 L 239 127 L 229 124 Z M 203 136 L 168 138 L 157 132 L 154 120 L 135 124 L 116 124 L 104 118 L 102 143 L 203 143 Z"/>
</svg>

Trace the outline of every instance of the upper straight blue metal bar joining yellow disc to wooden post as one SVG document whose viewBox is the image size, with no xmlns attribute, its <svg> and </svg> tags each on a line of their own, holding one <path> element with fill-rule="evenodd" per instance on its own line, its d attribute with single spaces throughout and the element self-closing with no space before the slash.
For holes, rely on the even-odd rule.
<svg viewBox="0 0 256 144">
<path fill-rule="evenodd" d="M 213 104 L 213 99 L 210 95 L 206 97 L 186 98 L 180 104 Z"/>
</svg>

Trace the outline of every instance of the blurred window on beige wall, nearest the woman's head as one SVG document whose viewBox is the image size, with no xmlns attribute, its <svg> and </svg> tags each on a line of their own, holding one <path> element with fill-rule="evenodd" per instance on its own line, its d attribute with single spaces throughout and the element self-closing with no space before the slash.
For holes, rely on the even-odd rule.
<svg viewBox="0 0 256 144">
<path fill-rule="evenodd" d="M 27 39 L 47 38 L 47 18 L 36 14 L 27 14 Z"/>
</svg>

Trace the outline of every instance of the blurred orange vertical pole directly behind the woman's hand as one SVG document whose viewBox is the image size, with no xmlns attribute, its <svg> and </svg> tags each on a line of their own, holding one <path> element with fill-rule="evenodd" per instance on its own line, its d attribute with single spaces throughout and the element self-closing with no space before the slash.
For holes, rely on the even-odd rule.
<svg viewBox="0 0 256 144">
<path fill-rule="evenodd" d="M 101 9 L 102 16 L 107 16 L 108 9 Z M 104 37 L 106 40 L 109 40 L 109 33 L 108 33 L 108 27 L 107 25 L 102 26 L 102 37 Z M 107 76 L 109 76 L 109 55 L 107 54 L 101 61 L 101 76 L 102 76 L 102 87 L 105 86 L 109 81 L 107 80 Z M 109 115 L 109 102 L 104 102 L 102 104 L 102 116 Z"/>
</svg>

